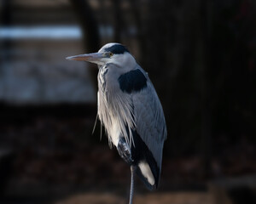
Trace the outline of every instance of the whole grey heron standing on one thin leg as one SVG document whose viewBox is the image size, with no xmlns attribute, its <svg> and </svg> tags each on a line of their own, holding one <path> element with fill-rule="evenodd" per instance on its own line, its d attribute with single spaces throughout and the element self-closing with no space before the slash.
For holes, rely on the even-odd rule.
<svg viewBox="0 0 256 204">
<path fill-rule="evenodd" d="M 131 166 L 130 201 L 134 172 L 148 187 L 158 187 L 166 120 L 147 72 L 125 46 L 108 43 L 97 53 L 67 57 L 98 65 L 98 116 L 110 145 Z"/>
</svg>

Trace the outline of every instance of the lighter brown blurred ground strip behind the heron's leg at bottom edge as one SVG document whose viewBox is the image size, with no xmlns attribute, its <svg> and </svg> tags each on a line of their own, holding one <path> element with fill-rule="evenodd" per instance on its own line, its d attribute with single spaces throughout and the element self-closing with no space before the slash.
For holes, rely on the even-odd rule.
<svg viewBox="0 0 256 204">
<path fill-rule="evenodd" d="M 113 194 L 85 193 L 67 197 L 54 204 L 125 204 L 128 200 Z M 218 196 L 214 191 L 208 192 L 172 192 L 172 193 L 148 193 L 135 195 L 136 204 L 231 204 L 226 195 Z"/>
</svg>

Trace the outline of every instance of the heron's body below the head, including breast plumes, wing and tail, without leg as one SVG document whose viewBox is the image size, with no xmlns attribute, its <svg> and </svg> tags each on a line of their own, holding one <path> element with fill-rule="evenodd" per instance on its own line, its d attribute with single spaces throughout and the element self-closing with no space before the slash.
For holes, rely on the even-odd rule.
<svg viewBox="0 0 256 204">
<path fill-rule="evenodd" d="M 102 70 L 103 73 L 109 77 L 109 73 Z M 99 76 L 102 75 L 99 73 Z M 109 140 L 119 150 L 119 141 L 123 139 L 131 151 L 130 164 L 137 167 L 137 175 L 148 189 L 157 188 L 166 122 L 152 82 L 139 65 L 119 76 L 117 81 L 105 78 L 102 83 L 98 79 L 98 113 Z"/>
</svg>

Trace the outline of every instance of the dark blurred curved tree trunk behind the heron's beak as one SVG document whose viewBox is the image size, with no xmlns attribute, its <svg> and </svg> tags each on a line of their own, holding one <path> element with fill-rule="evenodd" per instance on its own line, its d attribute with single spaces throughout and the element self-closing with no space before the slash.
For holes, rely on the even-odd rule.
<svg viewBox="0 0 256 204">
<path fill-rule="evenodd" d="M 82 28 L 85 52 L 96 52 L 101 47 L 100 37 L 98 31 L 98 24 L 89 3 L 85 0 L 70 0 L 70 3 L 72 3 L 73 5 L 74 12 L 79 20 L 79 25 Z M 95 66 L 96 65 L 90 65 L 90 75 L 96 88 L 96 78 L 98 70 Z"/>
</svg>

